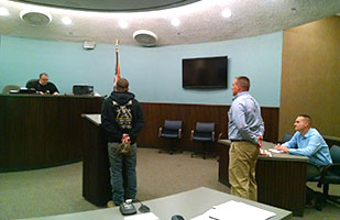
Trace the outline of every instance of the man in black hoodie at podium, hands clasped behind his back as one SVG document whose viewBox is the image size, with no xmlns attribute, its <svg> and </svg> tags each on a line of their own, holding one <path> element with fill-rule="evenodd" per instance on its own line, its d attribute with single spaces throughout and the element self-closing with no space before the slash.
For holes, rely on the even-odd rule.
<svg viewBox="0 0 340 220">
<path fill-rule="evenodd" d="M 142 107 L 129 92 L 127 79 L 118 79 L 114 90 L 103 101 L 101 124 L 107 133 L 112 186 L 112 200 L 107 206 L 113 207 L 127 199 L 135 199 L 135 140 L 144 125 Z"/>
</svg>

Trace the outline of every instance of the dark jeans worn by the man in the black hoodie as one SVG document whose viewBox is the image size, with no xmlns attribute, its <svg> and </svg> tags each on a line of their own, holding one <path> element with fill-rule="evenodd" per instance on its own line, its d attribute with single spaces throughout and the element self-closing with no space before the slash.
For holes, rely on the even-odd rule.
<svg viewBox="0 0 340 220">
<path fill-rule="evenodd" d="M 118 146 L 119 143 L 108 143 L 112 200 L 116 206 L 127 199 L 135 199 L 136 195 L 136 144 L 132 144 L 127 154 L 119 153 Z"/>
</svg>

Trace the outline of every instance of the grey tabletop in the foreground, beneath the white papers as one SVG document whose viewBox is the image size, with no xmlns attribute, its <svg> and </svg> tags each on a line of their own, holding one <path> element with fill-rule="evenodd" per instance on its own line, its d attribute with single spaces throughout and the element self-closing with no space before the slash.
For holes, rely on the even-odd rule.
<svg viewBox="0 0 340 220">
<path fill-rule="evenodd" d="M 289 219 L 292 212 L 263 205 L 260 202 L 242 199 L 229 194 L 217 191 L 210 188 L 200 187 L 193 190 L 175 194 L 172 196 L 166 196 L 158 199 L 153 199 L 144 201 L 143 204 L 149 206 L 151 211 L 158 217 L 161 220 L 171 219 L 174 215 L 180 215 L 185 219 L 191 219 L 194 217 L 200 216 L 216 205 L 220 205 L 230 200 L 242 201 L 244 204 L 275 212 L 276 216 L 271 218 L 271 220 L 277 219 Z M 135 204 L 135 207 L 139 208 L 140 205 Z M 94 211 L 85 211 L 77 213 L 42 217 L 42 218 L 30 218 L 30 220 L 120 220 L 124 219 L 119 211 L 118 207 L 114 208 L 105 208 Z"/>
</svg>

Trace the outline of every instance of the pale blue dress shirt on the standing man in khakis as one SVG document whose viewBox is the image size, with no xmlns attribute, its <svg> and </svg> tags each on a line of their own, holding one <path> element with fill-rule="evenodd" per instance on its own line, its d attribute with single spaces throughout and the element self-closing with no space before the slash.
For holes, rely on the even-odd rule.
<svg viewBox="0 0 340 220">
<path fill-rule="evenodd" d="M 260 106 L 249 91 L 242 91 L 233 97 L 228 117 L 230 140 L 246 140 L 257 144 L 259 135 L 264 133 L 264 123 Z"/>
</svg>

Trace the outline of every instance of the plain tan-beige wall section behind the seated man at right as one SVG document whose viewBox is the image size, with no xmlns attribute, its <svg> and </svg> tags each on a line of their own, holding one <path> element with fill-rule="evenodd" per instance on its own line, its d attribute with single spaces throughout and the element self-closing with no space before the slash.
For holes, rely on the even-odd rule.
<svg viewBox="0 0 340 220">
<path fill-rule="evenodd" d="M 297 114 L 323 135 L 340 136 L 340 16 L 284 31 L 279 139 Z"/>
</svg>

